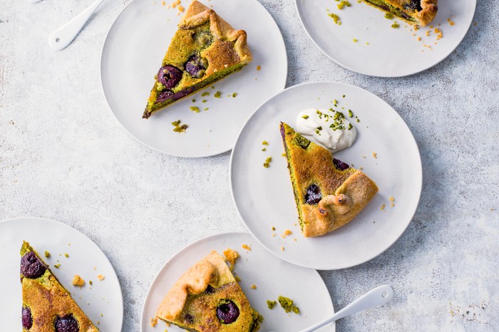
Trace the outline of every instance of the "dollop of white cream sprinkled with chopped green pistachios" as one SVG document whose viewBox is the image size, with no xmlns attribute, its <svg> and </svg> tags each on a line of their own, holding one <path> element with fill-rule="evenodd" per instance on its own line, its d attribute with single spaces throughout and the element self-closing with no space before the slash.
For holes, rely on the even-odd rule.
<svg viewBox="0 0 499 332">
<path fill-rule="evenodd" d="M 357 137 L 354 125 L 346 119 L 348 116 L 349 113 L 344 114 L 332 108 L 308 108 L 298 115 L 297 132 L 312 136 L 332 152 L 341 151 L 351 147 Z"/>
</svg>

